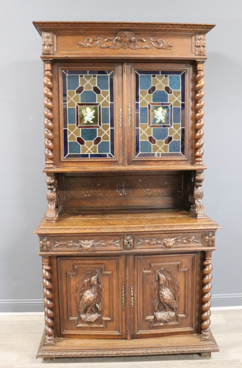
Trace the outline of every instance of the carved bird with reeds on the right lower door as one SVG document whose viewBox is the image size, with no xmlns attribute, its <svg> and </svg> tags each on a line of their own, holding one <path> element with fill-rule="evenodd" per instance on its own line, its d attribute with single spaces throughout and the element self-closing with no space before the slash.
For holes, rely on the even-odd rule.
<svg viewBox="0 0 242 368">
<path fill-rule="evenodd" d="M 176 276 L 165 268 L 157 270 L 151 290 L 154 316 L 157 321 L 162 324 L 171 322 L 178 307 L 179 294 Z"/>
</svg>

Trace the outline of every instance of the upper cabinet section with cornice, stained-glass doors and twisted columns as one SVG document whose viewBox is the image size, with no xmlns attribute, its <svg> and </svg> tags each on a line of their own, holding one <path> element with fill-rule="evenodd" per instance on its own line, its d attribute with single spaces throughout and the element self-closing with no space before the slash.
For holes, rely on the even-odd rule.
<svg viewBox="0 0 242 368">
<path fill-rule="evenodd" d="M 203 63 L 214 25 L 34 22 L 45 171 L 203 165 Z"/>
</svg>

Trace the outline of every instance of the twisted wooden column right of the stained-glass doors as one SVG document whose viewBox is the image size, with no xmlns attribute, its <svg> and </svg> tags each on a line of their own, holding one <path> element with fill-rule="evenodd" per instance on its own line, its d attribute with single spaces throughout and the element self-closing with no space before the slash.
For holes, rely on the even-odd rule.
<svg viewBox="0 0 242 368">
<path fill-rule="evenodd" d="M 204 106 L 204 100 L 203 100 L 203 96 L 204 96 L 204 91 L 203 91 L 203 87 L 204 87 L 204 73 L 203 73 L 203 63 L 201 61 L 197 61 L 197 74 L 196 74 L 196 86 L 195 86 L 195 128 L 196 128 L 196 133 L 195 133 L 195 165 L 203 165 L 203 125 L 204 125 L 204 120 L 203 120 L 203 116 L 204 116 L 204 111 L 203 111 L 203 106 Z"/>
</svg>

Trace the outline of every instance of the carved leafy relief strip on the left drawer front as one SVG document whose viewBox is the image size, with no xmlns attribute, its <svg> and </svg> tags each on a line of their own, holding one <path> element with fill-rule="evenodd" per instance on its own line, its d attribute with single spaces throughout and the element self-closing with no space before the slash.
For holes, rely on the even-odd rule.
<svg viewBox="0 0 242 368">
<path fill-rule="evenodd" d="M 78 243 L 74 243 L 73 240 L 63 240 L 63 241 L 54 241 L 55 245 L 54 247 L 67 247 L 67 248 L 82 248 L 85 251 L 89 251 L 92 247 L 120 247 L 120 239 L 114 240 L 78 240 Z"/>
</svg>

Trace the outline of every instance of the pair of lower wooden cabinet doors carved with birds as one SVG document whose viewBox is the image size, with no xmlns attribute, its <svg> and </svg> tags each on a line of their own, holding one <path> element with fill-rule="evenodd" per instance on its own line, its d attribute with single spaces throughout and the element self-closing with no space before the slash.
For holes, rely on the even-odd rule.
<svg viewBox="0 0 242 368">
<path fill-rule="evenodd" d="M 137 339 L 199 334 L 201 256 L 202 252 L 58 256 L 57 337 Z"/>
</svg>

